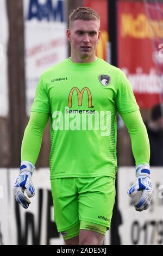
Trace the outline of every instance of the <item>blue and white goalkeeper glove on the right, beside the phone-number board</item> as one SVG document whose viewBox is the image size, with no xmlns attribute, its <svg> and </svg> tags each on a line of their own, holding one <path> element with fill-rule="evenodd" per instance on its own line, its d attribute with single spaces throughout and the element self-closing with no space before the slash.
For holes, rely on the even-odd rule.
<svg viewBox="0 0 163 256">
<path fill-rule="evenodd" d="M 153 196 L 149 164 L 139 164 L 136 166 L 136 177 L 137 180 L 129 188 L 127 193 L 129 197 L 135 197 L 139 191 L 142 192 L 141 198 L 134 204 L 134 206 L 136 211 L 143 211 L 148 209 Z"/>
</svg>

